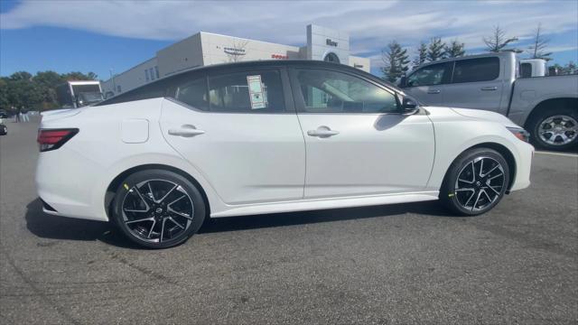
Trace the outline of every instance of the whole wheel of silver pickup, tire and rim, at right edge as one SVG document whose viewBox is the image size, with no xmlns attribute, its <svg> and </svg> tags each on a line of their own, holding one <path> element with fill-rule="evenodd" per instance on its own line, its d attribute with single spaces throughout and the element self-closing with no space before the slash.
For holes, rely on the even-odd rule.
<svg viewBox="0 0 578 325">
<path fill-rule="evenodd" d="M 566 150 L 578 144 L 578 110 L 560 107 L 539 112 L 529 123 L 532 142 L 546 150 Z"/>
</svg>

